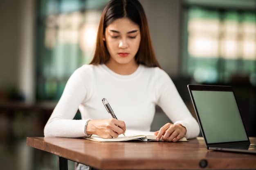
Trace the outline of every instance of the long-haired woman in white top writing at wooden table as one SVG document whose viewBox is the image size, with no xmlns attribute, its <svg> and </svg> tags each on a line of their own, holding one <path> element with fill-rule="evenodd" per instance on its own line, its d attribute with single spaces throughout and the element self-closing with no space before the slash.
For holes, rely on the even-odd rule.
<svg viewBox="0 0 256 170">
<path fill-rule="evenodd" d="M 118 120 L 108 114 L 102 98 Z M 155 105 L 173 122 L 155 132 L 157 140 L 198 136 L 197 121 L 157 62 L 143 7 L 138 0 L 111 0 L 101 14 L 94 57 L 67 81 L 44 134 L 112 138 L 126 129 L 149 131 Z M 78 109 L 82 120 L 72 120 Z"/>
</svg>

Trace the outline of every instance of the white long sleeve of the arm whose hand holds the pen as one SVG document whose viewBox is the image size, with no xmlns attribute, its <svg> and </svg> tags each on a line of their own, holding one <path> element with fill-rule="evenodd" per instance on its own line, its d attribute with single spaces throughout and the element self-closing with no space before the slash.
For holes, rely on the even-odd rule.
<svg viewBox="0 0 256 170">
<path fill-rule="evenodd" d="M 46 137 L 82 137 L 87 120 L 73 120 L 86 95 L 81 75 L 74 72 L 66 83 L 63 94 L 44 128 Z"/>
</svg>

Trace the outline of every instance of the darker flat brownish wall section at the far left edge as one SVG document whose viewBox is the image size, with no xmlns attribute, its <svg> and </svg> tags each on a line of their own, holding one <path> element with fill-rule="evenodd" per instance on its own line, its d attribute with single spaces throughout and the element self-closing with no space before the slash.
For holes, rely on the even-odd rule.
<svg viewBox="0 0 256 170">
<path fill-rule="evenodd" d="M 17 5 L 18 4 L 18 5 Z M 4 0 L 0 4 L 0 87 L 18 83 L 19 3 Z"/>
</svg>

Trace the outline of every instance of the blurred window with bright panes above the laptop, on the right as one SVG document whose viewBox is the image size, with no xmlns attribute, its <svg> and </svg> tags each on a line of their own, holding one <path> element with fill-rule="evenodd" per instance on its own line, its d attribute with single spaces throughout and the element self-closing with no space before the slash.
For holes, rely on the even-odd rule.
<svg viewBox="0 0 256 170">
<path fill-rule="evenodd" d="M 249 76 L 256 85 L 255 11 L 190 6 L 185 18 L 184 75 L 198 83 Z"/>
</svg>

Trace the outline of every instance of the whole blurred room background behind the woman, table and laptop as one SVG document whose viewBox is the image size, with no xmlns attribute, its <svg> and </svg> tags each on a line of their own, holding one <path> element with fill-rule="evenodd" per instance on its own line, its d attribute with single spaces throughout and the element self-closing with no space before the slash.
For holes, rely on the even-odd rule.
<svg viewBox="0 0 256 170">
<path fill-rule="evenodd" d="M 232 85 L 256 136 L 256 0 L 139 1 L 159 63 L 193 116 L 187 84 Z M 26 137 L 43 136 L 67 79 L 92 59 L 107 2 L 0 2 L 0 169 L 57 168 L 56 155 L 27 147 Z M 169 121 L 156 110 L 151 130 Z"/>
</svg>

